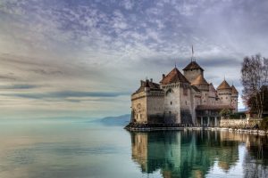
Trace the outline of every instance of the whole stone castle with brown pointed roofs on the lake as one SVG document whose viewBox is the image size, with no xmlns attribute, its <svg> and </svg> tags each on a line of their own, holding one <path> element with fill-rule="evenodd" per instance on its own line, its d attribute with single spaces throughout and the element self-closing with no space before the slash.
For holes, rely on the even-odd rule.
<svg viewBox="0 0 268 178">
<path fill-rule="evenodd" d="M 227 81 L 214 88 L 204 77 L 197 61 L 180 70 L 172 69 L 163 74 L 160 84 L 141 80 L 135 93 L 131 94 L 131 123 L 178 124 L 217 126 L 220 112 L 228 109 L 238 111 L 239 93 Z"/>
</svg>

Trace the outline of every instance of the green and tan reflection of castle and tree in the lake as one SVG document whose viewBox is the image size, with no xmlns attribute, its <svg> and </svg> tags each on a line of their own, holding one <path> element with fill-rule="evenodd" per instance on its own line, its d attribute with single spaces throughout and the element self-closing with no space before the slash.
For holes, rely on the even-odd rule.
<svg viewBox="0 0 268 178">
<path fill-rule="evenodd" d="M 141 172 L 165 178 L 266 177 L 267 145 L 266 136 L 229 132 L 131 133 L 132 160 Z"/>
</svg>

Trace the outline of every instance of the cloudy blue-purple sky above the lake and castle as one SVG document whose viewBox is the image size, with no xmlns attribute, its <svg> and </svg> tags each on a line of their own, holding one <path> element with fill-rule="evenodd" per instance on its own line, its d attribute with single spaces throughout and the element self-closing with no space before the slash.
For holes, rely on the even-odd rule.
<svg viewBox="0 0 268 178">
<path fill-rule="evenodd" d="M 182 71 L 192 44 L 206 80 L 241 94 L 267 42 L 266 0 L 0 0 L 0 118 L 130 113 L 139 80 Z"/>
</svg>

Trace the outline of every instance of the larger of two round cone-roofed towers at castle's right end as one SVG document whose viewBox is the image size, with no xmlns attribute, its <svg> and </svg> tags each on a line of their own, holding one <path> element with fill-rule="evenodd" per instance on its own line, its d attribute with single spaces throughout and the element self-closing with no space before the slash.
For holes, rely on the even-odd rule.
<svg viewBox="0 0 268 178">
<path fill-rule="evenodd" d="M 221 104 L 231 105 L 231 87 L 226 82 L 225 78 L 222 81 L 222 84 L 217 87 L 217 93 L 221 100 Z"/>
</svg>

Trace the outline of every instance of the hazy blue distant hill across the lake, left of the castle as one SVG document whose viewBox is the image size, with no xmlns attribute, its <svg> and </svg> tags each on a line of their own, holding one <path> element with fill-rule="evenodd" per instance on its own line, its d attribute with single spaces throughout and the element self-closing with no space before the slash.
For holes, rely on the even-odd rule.
<svg viewBox="0 0 268 178">
<path fill-rule="evenodd" d="M 95 120 L 98 123 L 101 123 L 103 125 L 118 125 L 118 126 L 124 126 L 128 125 L 130 122 L 130 114 L 121 115 L 118 117 L 104 117 L 101 119 Z"/>
</svg>

